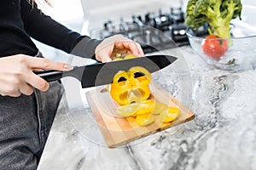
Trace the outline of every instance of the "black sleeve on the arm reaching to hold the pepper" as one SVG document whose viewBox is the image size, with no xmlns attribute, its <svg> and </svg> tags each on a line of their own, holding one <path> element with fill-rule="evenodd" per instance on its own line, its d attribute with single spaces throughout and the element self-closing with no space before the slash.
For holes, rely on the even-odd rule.
<svg viewBox="0 0 256 170">
<path fill-rule="evenodd" d="M 94 57 L 95 48 L 102 40 L 91 39 L 87 36 L 81 36 L 78 32 L 71 31 L 42 13 L 36 4 L 32 5 L 26 0 L 21 0 L 20 6 L 24 28 L 29 36 L 68 54 L 86 58 Z"/>
</svg>

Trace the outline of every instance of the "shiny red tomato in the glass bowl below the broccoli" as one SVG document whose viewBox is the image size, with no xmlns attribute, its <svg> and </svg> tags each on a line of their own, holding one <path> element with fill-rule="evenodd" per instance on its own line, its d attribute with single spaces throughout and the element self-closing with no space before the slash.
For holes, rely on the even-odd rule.
<svg viewBox="0 0 256 170">
<path fill-rule="evenodd" d="M 227 40 L 220 39 L 218 36 L 207 36 L 201 43 L 204 54 L 207 54 L 213 59 L 220 59 L 226 51 L 228 51 L 229 45 Z"/>
</svg>

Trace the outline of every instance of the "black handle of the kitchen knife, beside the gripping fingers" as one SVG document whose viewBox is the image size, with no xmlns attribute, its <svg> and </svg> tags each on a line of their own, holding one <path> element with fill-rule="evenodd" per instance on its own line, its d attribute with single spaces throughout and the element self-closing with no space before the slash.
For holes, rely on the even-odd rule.
<svg viewBox="0 0 256 170">
<path fill-rule="evenodd" d="M 38 71 L 35 73 L 39 77 L 44 78 L 47 82 L 60 80 L 63 77 L 63 71 Z"/>
</svg>

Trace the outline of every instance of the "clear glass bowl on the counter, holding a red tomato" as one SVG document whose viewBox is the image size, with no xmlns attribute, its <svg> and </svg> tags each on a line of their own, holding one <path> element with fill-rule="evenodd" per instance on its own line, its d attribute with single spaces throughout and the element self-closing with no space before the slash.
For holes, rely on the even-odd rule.
<svg viewBox="0 0 256 170">
<path fill-rule="evenodd" d="M 191 48 L 207 62 L 221 70 L 237 71 L 256 66 L 256 33 L 233 26 L 230 38 L 206 38 L 206 28 L 187 28 Z M 248 33 L 249 31 L 247 31 Z"/>
</svg>

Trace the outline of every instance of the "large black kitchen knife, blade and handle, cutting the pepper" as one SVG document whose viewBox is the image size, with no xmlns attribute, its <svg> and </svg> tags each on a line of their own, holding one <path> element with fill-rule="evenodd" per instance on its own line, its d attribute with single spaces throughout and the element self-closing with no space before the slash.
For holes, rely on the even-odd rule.
<svg viewBox="0 0 256 170">
<path fill-rule="evenodd" d="M 82 88 L 89 88 L 111 83 L 114 75 L 118 71 L 128 71 L 132 66 L 142 66 L 152 73 L 154 71 L 160 71 L 160 69 L 167 65 L 171 65 L 176 59 L 176 57 L 171 55 L 159 54 L 108 63 L 75 66 L 72 71 L 49 70 L 35 73 L 47 82 L 59 80 L 62 77 L 75 77 L 81 82 Z"/>
</svg>

